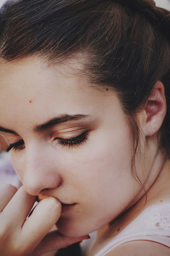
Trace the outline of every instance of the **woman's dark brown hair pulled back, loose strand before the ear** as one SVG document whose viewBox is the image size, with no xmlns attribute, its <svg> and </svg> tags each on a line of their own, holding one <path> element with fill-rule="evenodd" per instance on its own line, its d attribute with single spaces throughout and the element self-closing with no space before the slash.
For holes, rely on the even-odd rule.
<svg viewBox="0 0 170 256">
<path fill-rule="evenodd" d="M 152 0 L 11 0 L 0 13 L 1 58 L 56 62 L 81 54 L 92 84 L 116 92 L 134 138 L 132 165 L 139 147 L 136 114 L 162 81 L 167 114 L 161 141 L 170 155 L 169 11 Z"/>
</svg>

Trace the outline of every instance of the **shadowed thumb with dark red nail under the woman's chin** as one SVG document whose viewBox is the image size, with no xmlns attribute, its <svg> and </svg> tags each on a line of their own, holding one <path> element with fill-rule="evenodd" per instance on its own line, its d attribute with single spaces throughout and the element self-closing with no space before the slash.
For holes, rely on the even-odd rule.
<svg viewBox="0 0 170 256">
<path fill-rule="evenodd" d="M 89 238 L 89 235 L 84 235 L 82 237 L 66 237 L 58 230 L 50 231 L 39 243 L 36 249 L 30 254 L 30 256 L 39 256 L 49 251 L 58 250 Z"/>
</svg>

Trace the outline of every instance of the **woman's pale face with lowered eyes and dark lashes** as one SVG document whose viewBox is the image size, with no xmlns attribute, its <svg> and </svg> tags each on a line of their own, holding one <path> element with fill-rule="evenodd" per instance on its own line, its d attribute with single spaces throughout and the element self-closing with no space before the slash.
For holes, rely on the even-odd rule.
<svg viewBox="0 0 170 256">
<path fill-rule="evenodd" d="M 130 129 L 112 91 L 68 64 L 23 59 L 0 73 L 1 133 L 14 144 L 15 170 L 29 194 L 63 204 L 61 233 L 88 234 L 135 201 Z"/>
</svg>

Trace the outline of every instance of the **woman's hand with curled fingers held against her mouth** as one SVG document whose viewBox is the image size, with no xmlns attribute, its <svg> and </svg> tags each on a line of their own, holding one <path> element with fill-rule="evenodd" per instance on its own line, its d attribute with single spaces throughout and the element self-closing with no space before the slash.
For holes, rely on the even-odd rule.
<svg viewBox="0 0 170 256">
<path fill-rule="evenodd" d="M 61 215 L 61 203 L 54 197 L 41 200 L 26 219 L 35 200 L 23 186 L 17 190 L 5 185 L 0 190 L 0 255 L 39 256 L 88 238 L 49 232 Z"/>
</svg>

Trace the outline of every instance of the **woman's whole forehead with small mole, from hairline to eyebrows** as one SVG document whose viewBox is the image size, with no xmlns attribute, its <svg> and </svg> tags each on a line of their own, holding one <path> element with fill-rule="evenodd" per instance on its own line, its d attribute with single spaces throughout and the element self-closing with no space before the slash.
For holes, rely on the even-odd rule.
<svg viewBox="0 0 170 256">
<path fill-rule="evenodd" d="M 32 127 L 56 114 L 102 114 L 113 92 L 106 95 L 91 86 L 72 64 L 47 66 L 30 58 L 1 61 L 0 125 L 10 129 L 22 122 Z"/>
</svg>

